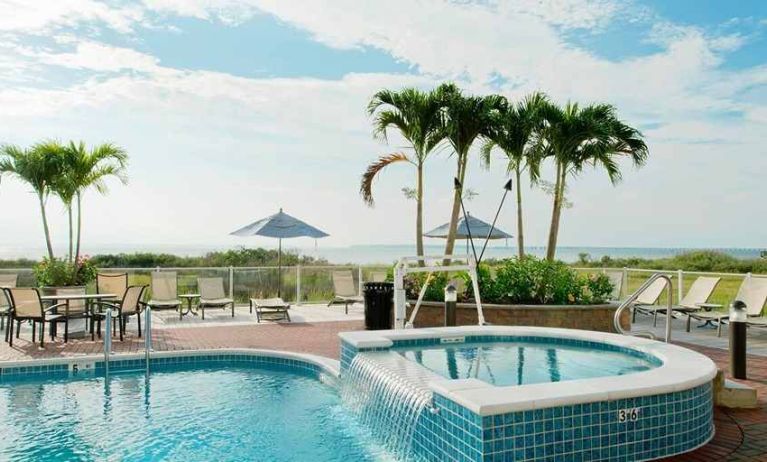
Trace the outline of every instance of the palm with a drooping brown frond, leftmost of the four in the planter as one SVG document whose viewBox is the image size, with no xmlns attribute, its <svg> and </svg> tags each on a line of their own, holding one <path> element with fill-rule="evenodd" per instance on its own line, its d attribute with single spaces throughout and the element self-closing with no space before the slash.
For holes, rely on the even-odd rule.
<svg viewBox="0 0 767 462">
<path fill-rule="evenodd" d="M 387 140 L 387 131 L 396 128 L 410 143 L 412 154 L 396 152 L 381 156 L 371 163 L 362 175 L 360 193 L 370 206 L 373 201 L 373 180 L 389 165 L 407 162 L 416 168 L 416 252 L 423 256 L 423 172 L 429 154 L 442 140 L 441 101 L 434 92 L 423 92 L 416 88 L 400 91 L 381 90 L 368 104 L 370 115 L 375 114 L 374 136 Z"/>
</svg>

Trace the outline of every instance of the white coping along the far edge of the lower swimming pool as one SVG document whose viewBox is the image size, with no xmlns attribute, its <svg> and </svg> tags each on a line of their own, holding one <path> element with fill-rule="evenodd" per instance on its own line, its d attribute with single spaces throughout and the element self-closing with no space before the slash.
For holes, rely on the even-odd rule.
<svg viewBox="0 0 767 462">
<path fill-rule="evenodd" d="M 205 350 L 175 350 L 175 351 L 152 351 L 150 353 L 150 368 L 151 360 L 159 358 L 182 358 L 188 356 L 219 356 L 219 355 L 234 355 L 234 356 L 262 356 L 268 358 L 281 358 L 281 359 L 293 359 L 297 361 L 303 361 L 309 364 L 313 364 L 322 369 L 323 372 L 332 375 L 333 377 L 340 376 L 340 366 L 335 359 L 326 358 L 324 356 L 313 355 L 310 353 L 294 353 L 292 351 L 281 350 L 267 350 L 262 348 L 219 348 L 219 349 L 205 349 Z M 146 353 L 114 353 L 110 356 L 110 361 L 130 361 L 130 360 L 144 360 Z M 7 369 L 11 367 L 35 367 L 35 366 L 53 366 L 53 365 L 82 365 L 86 363 L 104 362 L 104 355 L 84 355 L 84 356 L 68 356 L 63 358 L 45 358 L 45 359 L 28 359 L 22 361 L 2 361 L 0 362 L 0 369 Z"/>
</svg>

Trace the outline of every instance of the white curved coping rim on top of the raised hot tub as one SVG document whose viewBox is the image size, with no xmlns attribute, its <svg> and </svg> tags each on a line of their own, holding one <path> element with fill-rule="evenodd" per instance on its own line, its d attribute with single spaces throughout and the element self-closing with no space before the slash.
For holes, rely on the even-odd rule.
<svg viewBox="0 0 767 462">
<path fill-rule="evenodd" d="M 395 340 L 468 335 L 541 336 L 601 342 L 631 348 L 662 361 L 661 366 L 648 371 L 554 383 L 495 386 L 477 379 L 444 379 L 429 383 L 435 393 L 481 416 L 673 393 L 711 382 L 717 372 L 716 364 L 710 358 L 687 348 L 639 337 L 585 330 L 526 326 L 460 326 L 339 334 L 344 342 L 357 349 L 387 348 L 391 347 Z M 419 367 L 426 369 L 421 365 Z"/>
</svg>

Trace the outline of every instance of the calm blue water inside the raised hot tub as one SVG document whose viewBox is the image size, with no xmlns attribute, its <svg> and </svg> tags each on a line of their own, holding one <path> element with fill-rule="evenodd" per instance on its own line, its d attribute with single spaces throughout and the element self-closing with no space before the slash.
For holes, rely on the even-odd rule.
<svg viewBox="0 0 767 462">
<path fill-rule="evenodd" d="M 397 350 L 445 378 L 477 378 L 500 386 L 626 375 L 660 366 L 660 361 L 639 354 L 562 343 L 467 343 Z"/>
</svg>

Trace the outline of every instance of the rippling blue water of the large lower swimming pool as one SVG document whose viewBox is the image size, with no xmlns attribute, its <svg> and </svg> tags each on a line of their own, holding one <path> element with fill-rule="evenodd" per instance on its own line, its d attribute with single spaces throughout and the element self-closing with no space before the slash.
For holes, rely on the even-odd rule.
<svg viewBox="0 0 767 462">
<path fill-rule="evenodd" d="M 208 368 L 0 384 L 0 460 L 376 461 L 313 377 Z"/>
</svg>

